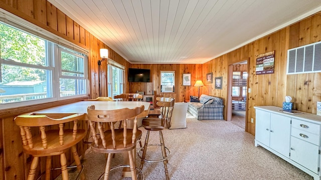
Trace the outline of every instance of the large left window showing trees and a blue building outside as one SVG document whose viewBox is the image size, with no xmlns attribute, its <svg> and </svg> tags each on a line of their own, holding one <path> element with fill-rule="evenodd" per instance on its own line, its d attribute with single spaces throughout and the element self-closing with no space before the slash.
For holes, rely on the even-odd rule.
<svg viewBox="0 0 321 180">
<path fill-rule="evenodd" d="M 0 109 L 87 95 L 87 56 L 0 22 Z"/>
</svg>

